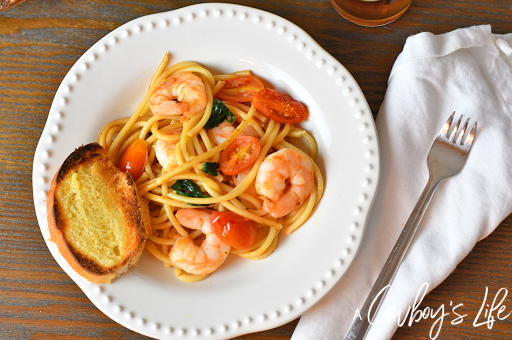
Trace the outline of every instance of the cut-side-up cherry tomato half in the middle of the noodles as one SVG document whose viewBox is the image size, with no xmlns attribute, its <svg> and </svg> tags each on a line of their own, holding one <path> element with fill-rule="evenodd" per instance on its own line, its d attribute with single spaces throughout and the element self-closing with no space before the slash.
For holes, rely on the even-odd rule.
<svg viewBox="0 0 512 340">
<path fill-rule="evenodd" d="M 237 175 L 252 165 L 260 154 L 258 139 L 242 136 L 233 140 L 222 152 L 219 167 L 226 175 Z"/>
</svg>

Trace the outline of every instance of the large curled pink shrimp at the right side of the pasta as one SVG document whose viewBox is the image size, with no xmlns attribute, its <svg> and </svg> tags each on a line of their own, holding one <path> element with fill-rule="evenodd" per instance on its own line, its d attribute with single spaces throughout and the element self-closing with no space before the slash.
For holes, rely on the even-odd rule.
<svg viewBox="0 0 512 340">
<path fill-rule="evenodd" d="M 274 218 L 291 213 L 311 195 L 313 178 L 313 165 L 302 153 L 285 148 L 268 155 L 255 184 L 262 195 L 263 209 Z"/>
</svg>

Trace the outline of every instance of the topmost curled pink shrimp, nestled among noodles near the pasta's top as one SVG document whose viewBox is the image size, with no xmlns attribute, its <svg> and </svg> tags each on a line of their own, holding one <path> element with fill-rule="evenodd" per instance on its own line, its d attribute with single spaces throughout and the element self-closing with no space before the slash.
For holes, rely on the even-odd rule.
<svg viewBox="0 0 512 340">
<path fill-rule="evenodd" d="M 191 118 L 206 108 L 206 91 L 201 78 L 190 72 L 176 73 L 153 88 L 148 99 L 155 115 Z"/>
</svg>

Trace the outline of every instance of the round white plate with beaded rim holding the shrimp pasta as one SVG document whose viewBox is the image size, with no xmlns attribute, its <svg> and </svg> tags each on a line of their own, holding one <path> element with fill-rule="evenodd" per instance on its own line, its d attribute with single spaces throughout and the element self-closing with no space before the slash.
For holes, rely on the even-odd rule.
<svg viewBox="0 0 512 340">
<path fill-rule="evenodd" d="M 144 254 L 110 285 L 79 277 L 49 241 L 46 193 L 74 148 L 132 115 L 164 53 L 214 72 L 252 70 L 302 100 L 326 188 L 314 214 L 262 261 L 231 256 L 183 283 Z M 199 4 L 147 15 L 100 39 L 62 80 L 34 156 L 34 204 L 58 264 L 106 315 L 157 339 L 227 339 L 283 325 L 318 302 L 357 252 L 379 178 L 379 150 L 364 95 L 348 71 L 302 29 L 253 8 Z M 343 308 L 343 306 L 340 306 Z"/>
</svg>

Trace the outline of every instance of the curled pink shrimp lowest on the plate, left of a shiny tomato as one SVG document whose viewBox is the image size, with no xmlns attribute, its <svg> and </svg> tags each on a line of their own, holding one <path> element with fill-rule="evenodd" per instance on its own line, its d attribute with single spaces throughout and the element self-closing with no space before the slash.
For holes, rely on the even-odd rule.
<svg viewBox="0 0 512 340">
<path fill-rule="evenodd" d="M 200 246 L 187 237 L 175 236 L 169 259 L 176 267 L 191 274 L 208 274 L 217 270 L 228 256 L 230 246 L 221 242 L 210 226 L 210 214 L 197 209 L 176 211 L 178 222 L 185 227 L 201 230 L 206 239 Z"/>
</svg>

